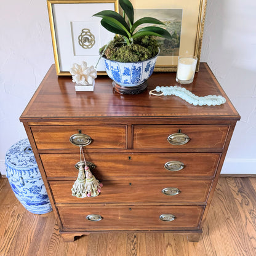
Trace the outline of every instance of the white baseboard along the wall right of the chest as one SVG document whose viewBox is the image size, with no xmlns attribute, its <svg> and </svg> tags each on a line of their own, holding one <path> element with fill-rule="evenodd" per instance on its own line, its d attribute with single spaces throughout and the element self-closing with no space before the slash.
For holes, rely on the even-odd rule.
<svg viewBox="0 0 256 256">
<path fill-rule="evenodd" d="M 256 158 L 226 158 L 221 174 L 256 174 Z"/>
</svg>

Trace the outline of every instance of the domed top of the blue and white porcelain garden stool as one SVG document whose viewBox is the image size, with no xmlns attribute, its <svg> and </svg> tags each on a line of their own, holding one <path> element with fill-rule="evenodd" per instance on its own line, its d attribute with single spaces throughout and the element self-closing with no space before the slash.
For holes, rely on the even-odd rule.
<svg viewBox="0 0 256 256">
<path fill-rule="evenodd" d="M 6 165 L 15 169 L 38 167 L 28 138 L 20 140 L 7 150 Z"/>
</svg>

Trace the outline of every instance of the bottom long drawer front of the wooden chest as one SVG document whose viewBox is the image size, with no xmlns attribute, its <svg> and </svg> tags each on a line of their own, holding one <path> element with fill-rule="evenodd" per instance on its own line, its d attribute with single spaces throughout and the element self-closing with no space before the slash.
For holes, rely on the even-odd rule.
<svg viewBox="0 0 256 256">
<path fill-rule="evenodd" d="M 65 230 L 86 231 L 198 228 L 203 210 L 204 206 L 58 207 Z M 169 222 L 160 220 L 159 217 L 163 214 L 165 214 L 164 217 L 167 214 L 172 214 L 175 218 Z M 92 221 L 94 219 L 98 220 L 100 217 L 102 217 L 101 220 Z M 171 216 L 168 217 L 171 220 Z"/>
</svg>

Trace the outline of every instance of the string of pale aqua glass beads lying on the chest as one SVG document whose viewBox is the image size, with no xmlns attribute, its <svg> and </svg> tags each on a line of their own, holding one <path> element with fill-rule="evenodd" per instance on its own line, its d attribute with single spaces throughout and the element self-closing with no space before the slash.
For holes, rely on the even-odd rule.
<svg viewBox="0 0 256 256">
<path fill-rule="evenodd" d="M 156 94 L 154 91 L 161 92 L 161 94 Z M 204 97 L 199 97 L 190 92 L 190 90 L 178 86 L 156 86 L 156 89 L 150 91 L 150 95 L 175 95 L 182 98 L 186 102 L 193 104 L 194 106 L 216 106 L 222 105 L 226 102 L 226 99 L 221 95 L 207 95 Z"/>
</svg>

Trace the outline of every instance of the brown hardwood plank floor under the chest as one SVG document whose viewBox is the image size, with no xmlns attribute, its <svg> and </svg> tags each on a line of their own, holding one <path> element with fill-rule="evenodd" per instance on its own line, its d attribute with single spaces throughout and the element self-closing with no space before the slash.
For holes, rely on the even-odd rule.
<svg viewBox="0 0 256 256">
<path fill-rule="evenodd" d="M 54 213 L 26 211 L 0 178 L 0 256 L 254 256 L 256 178 L 220 178 L 200 241 L 169 233 L 95 233 L 64 243 Z"/>
</svg>

